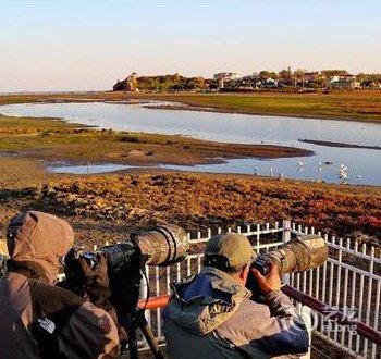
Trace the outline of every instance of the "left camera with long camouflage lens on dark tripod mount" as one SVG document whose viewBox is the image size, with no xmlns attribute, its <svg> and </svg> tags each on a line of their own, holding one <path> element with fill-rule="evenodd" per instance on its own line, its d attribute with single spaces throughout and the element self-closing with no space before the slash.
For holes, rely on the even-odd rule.
<svg viewBox="0 0 381 359">
<path fill-rule="evenodd" d="M 131 232 L 125 242 L 101 247 L 97 251 L 75 251 L 74 270 L 67 259 L 65 273 L 75 287 L 75 261 L 83 258 L 90 268 L 96 268 L 99 255 L 102 255 L 107 260 L 110 302 L 116 310 L 119 323 L 128 326 L 127 313 L 136 310 L 144 265 L 176 263 L 186 257 L 188 247 L 189 240 L 182 227 L 175 224 L 155 226 Z"/>
</svg>

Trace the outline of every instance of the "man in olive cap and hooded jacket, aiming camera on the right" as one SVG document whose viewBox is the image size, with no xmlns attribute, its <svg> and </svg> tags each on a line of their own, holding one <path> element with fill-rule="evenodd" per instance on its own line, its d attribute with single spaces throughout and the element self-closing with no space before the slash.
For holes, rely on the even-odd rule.
<svg viewBox="0 0 381 359">
<path fill-rule="evenodd" d="M 307 329 L 280 290 L 275 265 L 267 276 L 251 270 L 265 299 L 250 299 L 255 293 L 245 285 L 254 258 L 242 234 L 225 233 L 208 240 L 204 269 L 172 285 L 163 310 L 171 358 L 291 358 L 308 351 Z"/>
</svg>

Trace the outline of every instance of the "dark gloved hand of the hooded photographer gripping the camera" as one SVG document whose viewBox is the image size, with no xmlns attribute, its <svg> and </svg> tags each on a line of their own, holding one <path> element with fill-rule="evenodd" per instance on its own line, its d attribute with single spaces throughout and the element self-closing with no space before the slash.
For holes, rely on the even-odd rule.
<svg viewBox="0 0 381 359">
<path fill-rule="evenodd" d="M 65 257 L 66 285 L 82 297 L 87 297 L 94 305 L 109 309 L 109 276 L 107 259 L 97 253 L 97 261 L 91 267 L 77 249 L 72 248 Z"/>
</svg>

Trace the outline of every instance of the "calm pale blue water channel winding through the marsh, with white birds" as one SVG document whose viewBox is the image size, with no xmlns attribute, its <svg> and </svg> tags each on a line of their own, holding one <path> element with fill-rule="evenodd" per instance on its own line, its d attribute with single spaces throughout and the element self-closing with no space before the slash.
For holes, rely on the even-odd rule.
<svg viewBox="0 0 381 359">
<path fill-rule="evenodd" d="M 339 183 L 340 165 L 346 182 L 381 185 L 381 150 L 333 148 L 299 143 L 298 139 L 381 146 L 381 125 L 295 117 L 244 115 L 187 110 L 147 109 L 125 103 L 36 103 L 0 107 L 8 115 L 62 117 L 67 122 L 100 128 L 182 134 L 207 140 L 241 144 L 284 145 L 307 148 L 316 156 L 300 159 L 237 159 L 223 164 L 196 166 L 161 165 L 185 171 L 250 173 Z M 303 165 L 300 165 L 303 162 Z M 319 162 L 332 162 L 319 165 Z"/>
</svg>

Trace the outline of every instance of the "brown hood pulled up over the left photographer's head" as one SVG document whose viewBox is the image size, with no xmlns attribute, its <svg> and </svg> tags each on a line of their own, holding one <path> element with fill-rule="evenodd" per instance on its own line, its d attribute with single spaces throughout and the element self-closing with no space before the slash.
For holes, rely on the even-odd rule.
<svg viewBox="0 0 381 359">
<path fill-rule="evenodd" d="M 57 282 L 60 258 L 74 242 L 71 225 L 56 215 L 27 211 L 13 218 L 8 227 L 7 246 L 11 261 L 37 271 L 48 283 Z"/>
</svg>

